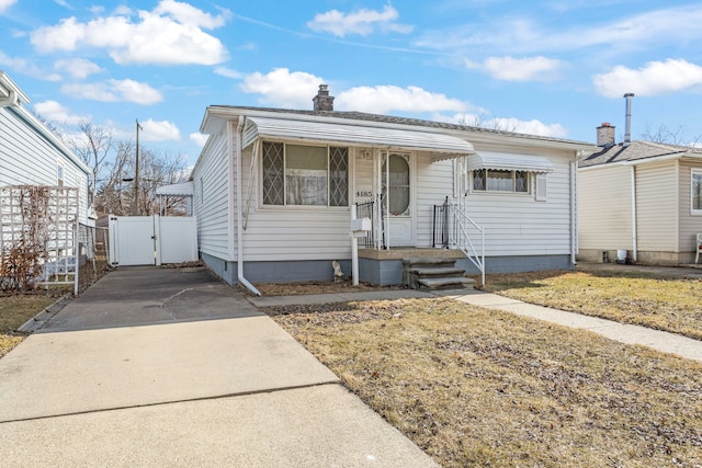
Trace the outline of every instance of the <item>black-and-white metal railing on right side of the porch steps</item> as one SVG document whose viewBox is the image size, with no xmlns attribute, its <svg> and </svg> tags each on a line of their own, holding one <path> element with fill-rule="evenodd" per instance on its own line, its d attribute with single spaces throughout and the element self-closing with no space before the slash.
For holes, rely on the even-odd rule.
<svg viewBox="0 0 702 468">
<path fill-rule="evenodd" d="M 478 269 L 485 285 L 485 228 L 471 219 L 458 205 L 449 202 L 449 197 L 443 204 L 434 205 L 433 224 L 432 247 L 460 249 Z M 479 253 L 473 243 L 473 238 L 478 236 Z"/>
</svg>

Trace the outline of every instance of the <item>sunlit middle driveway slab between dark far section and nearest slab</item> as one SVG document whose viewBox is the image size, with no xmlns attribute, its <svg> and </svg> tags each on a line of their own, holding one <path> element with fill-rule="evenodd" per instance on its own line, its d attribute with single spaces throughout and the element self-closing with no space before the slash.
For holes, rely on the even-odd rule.
<svg viewBox="0 0 702 468">
<path fill-rule="evenodd" d="M 0 422 L 336 381 L 263 315 L 35 333 L 0 359 Z"/>
</svg>

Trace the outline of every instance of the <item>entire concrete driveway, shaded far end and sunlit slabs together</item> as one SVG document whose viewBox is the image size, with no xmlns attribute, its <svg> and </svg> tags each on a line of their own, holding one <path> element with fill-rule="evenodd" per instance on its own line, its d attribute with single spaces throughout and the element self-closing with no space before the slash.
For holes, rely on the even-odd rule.
<svg viewBox="0 0 702 468">
<path fill-rule="evenodd" d="M 5 466 L 434 466 L 204 269 L 120 269 L 0 359 Z"/>
</svg>

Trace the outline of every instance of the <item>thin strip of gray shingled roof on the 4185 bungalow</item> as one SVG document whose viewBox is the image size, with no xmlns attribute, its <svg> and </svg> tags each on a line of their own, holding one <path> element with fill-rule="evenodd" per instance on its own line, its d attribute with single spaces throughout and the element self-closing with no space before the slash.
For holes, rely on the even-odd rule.
<svg viewBox="0 0 702 468">
<path fill-rule="evenodd" d="M 396 117 L 393 115 L 369 114 L 365 112 L 344 112 L 344 111 L 304 111 L 304 110 L 291 110 L 291 109 L 276 109 L 276 107 L 253 107 L 253 106 L 239 106 L 239 105 L 216 105 L 216 107 L 231 109 L 233 111 L 263 111 L 274 112 L 281 114 L 297 114 L 297 115 L 310 115 L 321 117 L 336 117 L 348 118 L 352 121 L 363 122 L 378 122 L 385 124 L 400 124 L 400 125 L 414 125 L 424 128 L 442 128 L 448 130 L 458 132 L 474 132 L 492 135 L 511 135 L 520 138 L 529 138 L 541 141 L 556 141 L 556 142 L 570 142 L 570 144 L 588 144 L 587 141 L 570 140 L 565 138 L 552 138 L 539 135 L 520 134 L 516 132 L 496 130 L 491 128 L 474 127 L 469 125 L 450 124 L 445 122 L 423 121 L 420 118 Z M 593 145 L 595 146 L 595 145 Z"/>
</svg>

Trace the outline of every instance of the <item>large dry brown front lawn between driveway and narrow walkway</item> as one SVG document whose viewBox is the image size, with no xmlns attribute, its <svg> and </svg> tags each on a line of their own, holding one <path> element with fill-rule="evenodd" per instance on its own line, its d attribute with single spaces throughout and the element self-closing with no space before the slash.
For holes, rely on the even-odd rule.
<svg viewBox="0 0 702 468">
<path fill-rule="evenodd" d="M 442 466 L 702 466 L 701 363 L 448 298 L 265 310 Z"/>
</svg>

